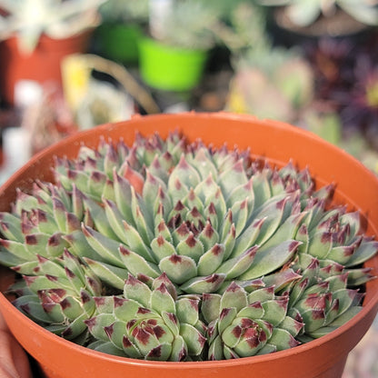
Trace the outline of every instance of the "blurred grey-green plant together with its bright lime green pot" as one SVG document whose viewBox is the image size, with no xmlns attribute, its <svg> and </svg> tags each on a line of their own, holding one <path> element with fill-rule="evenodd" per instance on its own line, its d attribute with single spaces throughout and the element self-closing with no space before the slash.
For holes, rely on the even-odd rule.
<svg viewBox="0 0 378 378">
<path fill-rule="evenodd" d="M 165 4 L 164 4 L 165 3 Z M 150 35 L 140 43 L 140 72 L 157 89 L 184 92 L 198 84 L 215 39 L 214 1 L 152 0 Z"/>
</svg>

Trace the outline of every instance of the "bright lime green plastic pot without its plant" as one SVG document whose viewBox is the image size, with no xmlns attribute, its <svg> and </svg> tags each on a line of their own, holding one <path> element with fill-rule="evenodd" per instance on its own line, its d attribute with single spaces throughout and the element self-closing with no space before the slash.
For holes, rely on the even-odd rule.
<svg viewBox="0 0 378 378">
<path fill-rule="evenodd" d="M 139 45 L 140 73 L 145 84 L 173 92 L 190 91 L 204 72 L 206 50 L 190 50 L 143 38 Z"/>
</svg>

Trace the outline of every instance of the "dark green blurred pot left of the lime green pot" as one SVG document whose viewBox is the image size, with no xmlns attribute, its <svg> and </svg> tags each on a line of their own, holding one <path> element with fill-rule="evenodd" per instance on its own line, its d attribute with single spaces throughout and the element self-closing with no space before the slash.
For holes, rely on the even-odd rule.
<svg viewBox="0 0 378 378">
<path fill-rule="evenodd" d="M 142 29 L 136 24 L 104 23 L 96 30 L 99 49 L 108 59 L 122 64 L 137 64 Z"/>
</svg>

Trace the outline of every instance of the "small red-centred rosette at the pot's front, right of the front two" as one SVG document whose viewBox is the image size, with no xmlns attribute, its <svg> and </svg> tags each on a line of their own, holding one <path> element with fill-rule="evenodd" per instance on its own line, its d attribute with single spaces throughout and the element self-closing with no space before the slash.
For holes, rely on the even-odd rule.
<svg viewBox="0 0 378 378">
<path fill-rule="evenodd" d="M 208 326 L 208 359 L 249 357 L 289 349 L 303 323 L 287 315 L 288 294 L 277 296 L 274 287 L 247 293 L 232 283 L 222 295 L 205 293 L 202 313 Z"/>
</svg>

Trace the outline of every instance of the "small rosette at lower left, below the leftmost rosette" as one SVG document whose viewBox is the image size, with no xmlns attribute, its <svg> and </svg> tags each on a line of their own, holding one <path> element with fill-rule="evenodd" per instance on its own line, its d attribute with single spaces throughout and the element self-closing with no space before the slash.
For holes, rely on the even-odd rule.
<svg viewBox="0 0 378 378">
<path fill-rule="evenodd" d="M 24 281 L 12 287 L 19 295 L 15 306 L 49 331 L 85 343 L 85 321 L 94 315 L 100 281 L 67 250 L 56 262 L 37 258 L 38 275 L 24 275 Z"/>
</svg>

